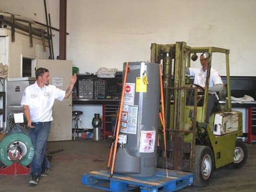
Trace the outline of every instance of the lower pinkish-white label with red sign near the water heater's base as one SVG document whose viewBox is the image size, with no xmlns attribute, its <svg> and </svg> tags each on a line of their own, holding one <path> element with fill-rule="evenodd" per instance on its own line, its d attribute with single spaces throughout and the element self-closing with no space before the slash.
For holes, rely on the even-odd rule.
<svg viewBox="0 0 256 192">
<path fill-rule="evenodd" d="M 156 131 L 141 131 L 140 153 L 152 153 L 155 149 Z"/>
</svg>

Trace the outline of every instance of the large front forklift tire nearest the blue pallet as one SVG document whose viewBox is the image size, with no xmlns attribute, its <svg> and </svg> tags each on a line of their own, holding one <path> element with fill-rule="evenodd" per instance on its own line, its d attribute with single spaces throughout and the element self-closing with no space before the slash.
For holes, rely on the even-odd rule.
<svg viewBox="0 0 256 192">
<path fill-rule="evenodd" d="M 214 170 L 214 157 L 210 147 L 204 145 L 195 146 L 195 166 L 193 184 L 197 187 L 205 187 L 209 184 Z"/>
</svg>

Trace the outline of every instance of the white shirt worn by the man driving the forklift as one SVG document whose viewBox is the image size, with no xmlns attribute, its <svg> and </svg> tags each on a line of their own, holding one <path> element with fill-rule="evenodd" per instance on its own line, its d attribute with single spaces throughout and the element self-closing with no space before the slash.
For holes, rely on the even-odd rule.
<svg viewBox="0 0 256 192">
<path fill-rule="evenodd" d="M 189 76 L 195 77 L 194 84 L 198 84 L 201 87 L 206 86 L 207 70 L 204 72 L 203 68 L 189 68 L 189 73 L 190 73 Z M 219 73 L 213 68 L 211 68 L 209 87 L 212 87 L 215 84 L 223 84 L 223 83 L 219 76 Z M 215 92 L 209 92 L 209 93 L 216 94 Z"/>
</svg>

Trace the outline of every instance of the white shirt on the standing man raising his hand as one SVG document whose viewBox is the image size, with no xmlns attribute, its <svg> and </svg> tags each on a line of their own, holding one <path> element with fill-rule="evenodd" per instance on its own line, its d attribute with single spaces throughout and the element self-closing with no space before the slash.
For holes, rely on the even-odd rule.
<svg viewBox="0 0 256 192">
<path fill-rule="evenodd" d="M 54 85 L 44 85 L 42 89 L 35 84 L 28 86 L 23 93 L 21 105 L 29 106 L 32 122 L 52 121 L 52 106 L 55 99 L 63 100 L 65 91 Z"/>
</svg>

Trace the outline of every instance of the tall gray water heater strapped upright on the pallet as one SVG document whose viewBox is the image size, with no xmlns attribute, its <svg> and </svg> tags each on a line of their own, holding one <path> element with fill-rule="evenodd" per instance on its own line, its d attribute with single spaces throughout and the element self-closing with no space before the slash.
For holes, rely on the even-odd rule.
<svg viewBox="0 0 256 192">
<path fill-rule="evenodd" d="M 114 173 L 150 177 L 157 165 L 159 64 L 129 62 L 128 67 Z"/>
</svg>

